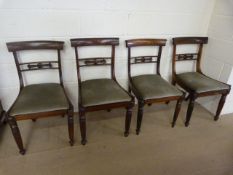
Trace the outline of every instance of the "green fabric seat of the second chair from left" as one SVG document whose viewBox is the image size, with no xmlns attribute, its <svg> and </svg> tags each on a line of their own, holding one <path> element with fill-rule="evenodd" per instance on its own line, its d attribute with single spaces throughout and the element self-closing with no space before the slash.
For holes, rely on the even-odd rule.
<svg viewBox="0 0 233 175">
<path fill-rule="evenodd" d="M 131 101 L 131 97 L 111 79 L 83 81 L 81 99 L 84 107 Z"/>
</svg>

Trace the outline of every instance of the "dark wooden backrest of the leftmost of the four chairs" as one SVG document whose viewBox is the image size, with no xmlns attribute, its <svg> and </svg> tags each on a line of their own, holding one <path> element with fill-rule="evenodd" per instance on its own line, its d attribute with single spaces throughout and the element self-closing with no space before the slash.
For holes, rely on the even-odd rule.
<svg viewBox="0 0 233 175">
<path fill-rule="evenodd" d="M 62 70 L 61 70 L 61 53 L 64 42 L 62 41 L 21 41 L 6 43 L 8 51 L 12 52 L 17 67 L 17 72 L 20 81 L 20 89 L 24 87 L 22 73 L 26 71 L 57 69 L 59 72 L 60 84 L 63 86 Z M 18 52 L 26 50 L 56 50 L 57 61 L 32 61 L 20 62 Z"/>
</svg>

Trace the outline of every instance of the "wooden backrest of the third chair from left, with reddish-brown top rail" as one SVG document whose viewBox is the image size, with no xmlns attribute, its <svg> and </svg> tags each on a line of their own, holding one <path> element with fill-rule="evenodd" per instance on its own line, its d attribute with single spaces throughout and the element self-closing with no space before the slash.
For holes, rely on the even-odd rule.
<svg viewBox="0 0 233 175">
<path fill-rule="evenodd" d="M 160 59 L 162 47 L 166 45 L 166 39 L 131 39 L 126 40 L 125 44 L 128 48 L 128 76 L 131 77 L 131 65 L 142 63 L 157 63 L 156 72 L 160 75 Z M 131 56 L 131 48 L 139 46 L 155 46 L 159 47 L 157 55 Z"/>
</svg>

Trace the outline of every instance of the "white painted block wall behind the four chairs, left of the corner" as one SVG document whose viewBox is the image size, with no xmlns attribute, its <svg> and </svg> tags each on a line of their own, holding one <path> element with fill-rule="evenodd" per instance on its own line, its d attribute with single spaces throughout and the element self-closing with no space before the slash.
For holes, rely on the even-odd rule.
<svg viewBox="0 0 233 175">
<path fill-rule="evenodd" d="M 73 37 L 120 37 L 116 50 L 116 76 L 126 87 L 127 67 L 124 40 L 205 36 L 215 0 L 0 0 L 0 98 L 7 109 L 18 94 L 19 83 L 9 41 L 54 39 L 66 42 L 62 53 L 64 82 L 77 109 L 78 87 Z M 212 24 L 213 25 L 213 24 Z M 164 48 L 161 73 L 170 77 L 171 43 Z M 95 53 L 96 51 L 93 51 Z M 35 56 L 37 58 L 40 56 Z M 211 57 L 212 58 L 212 57 Z M 105 76 L 105 70 L 101 70 Z M 46 82 L 53 76 L 27 79 Z M 96 74 L 85 70 L 85 77 Z"/>
</svg>

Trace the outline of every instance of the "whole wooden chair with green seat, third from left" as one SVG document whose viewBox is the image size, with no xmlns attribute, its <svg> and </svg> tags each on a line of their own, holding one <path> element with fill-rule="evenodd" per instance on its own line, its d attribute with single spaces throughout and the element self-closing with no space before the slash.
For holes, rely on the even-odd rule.
<svg viewBox="0 0 233 175">
<path fill-rule="evenodd" d="M 138 99 L 137 129 L 139 134 L 143 117 L 143 107 L 145 104 L 169 102 L 177 100 L 176 109 L 172 121 L 172 127 L 175 126 L 184 94 L 176 87 L 165 81 L 160 75 L 160 59 L 162 47 L 166 44 L 166 39 L 132 39 L 126 40 L 128 48 L 128 76 L 129 76 L 129 92 L 131 90 Z M 149 56 L 131 56 L 131 48 L 139 46 L 158 47 L 158 55 Z M 156 74 L 145 74 L 139 76 L 131 76 L 131 66 L 134 64 L 157 63 Z"/>
</svg>

